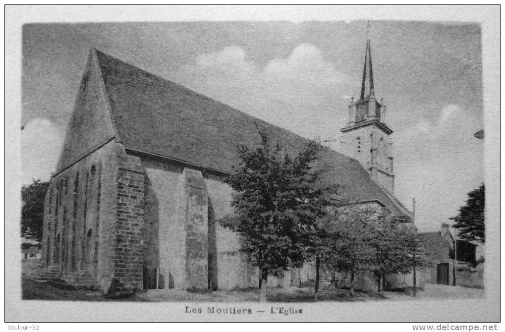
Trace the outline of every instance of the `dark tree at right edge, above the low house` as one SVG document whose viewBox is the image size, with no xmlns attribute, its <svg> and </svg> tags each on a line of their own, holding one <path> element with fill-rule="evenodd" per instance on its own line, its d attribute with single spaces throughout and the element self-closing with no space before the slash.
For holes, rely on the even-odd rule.
<svg viewBox="0 0 505 332">
<path fill-rule="evenodd" d="M 460 207 L 457 216 L 450 218 L 455 221 L 454 228 L 458 236 L 467 241 L 484 243 L 484 184 L 468 193 L 465 206 Z"/>
</svg>

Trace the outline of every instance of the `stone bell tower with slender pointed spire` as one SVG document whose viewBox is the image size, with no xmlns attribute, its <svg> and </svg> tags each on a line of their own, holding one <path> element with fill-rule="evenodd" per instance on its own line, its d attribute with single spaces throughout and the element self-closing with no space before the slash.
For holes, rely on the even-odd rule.
<svg viewBox="0 0 505 332">
<path fill-rule="evenodd" d="M 351 98 L 348 106 L 348 120 L 340 129 L 341 152 L 357 159 L 389 193 L 394 191 L 392 141 L 393 132 L 385 124 L 386 105 L 383 99 L 377 101 L 374 91 L 372 51 L 370 47 L 370 21 L 367 24 L 367 46 L 361 84 L 360 98 Z"/>
</svg>

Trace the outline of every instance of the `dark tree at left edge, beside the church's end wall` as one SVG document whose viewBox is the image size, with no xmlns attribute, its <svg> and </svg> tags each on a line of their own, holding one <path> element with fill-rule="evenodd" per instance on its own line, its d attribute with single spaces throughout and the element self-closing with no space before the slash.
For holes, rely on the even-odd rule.
<svg viewBox="0 0 505 332">
<path fill-rule="evenodd" d="M 49 182 L 33 180 L 21 189 L 23 207 L 21 210 L 21 235 L 27 239 L 42 240 L 44 220 L 44 199 Z"/>
</svg>

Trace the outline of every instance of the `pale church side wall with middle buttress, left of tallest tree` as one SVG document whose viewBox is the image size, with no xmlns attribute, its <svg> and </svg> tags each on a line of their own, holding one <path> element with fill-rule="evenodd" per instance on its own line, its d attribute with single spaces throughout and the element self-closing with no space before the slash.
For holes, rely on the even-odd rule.
<svg viewBox="0 0 505 332">
<path fill-rule="evenodd" d="M 158 224 L 153 243 L 159 243 L 164 287 L 257 287 L 257 268 L 239 252 L 238 234 L 219 224 L 232 212 L 232 189 L 222 177 L 149 156 L 142 164 L 150 184 L 146 223 Z"/>
</svg>

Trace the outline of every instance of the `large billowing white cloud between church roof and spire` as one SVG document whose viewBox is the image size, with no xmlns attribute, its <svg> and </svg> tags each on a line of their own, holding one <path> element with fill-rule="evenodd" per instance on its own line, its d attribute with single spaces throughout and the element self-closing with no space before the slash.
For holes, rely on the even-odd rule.
<svg viewBox="0 0 505 332">
<path fill-rule="evenodd" d="M 170 78 L 299 135 L 335 135 L 327 119 L 347 114 L 345 108 L 335 112 L 339 96 L 346 94 L 347 77 L 319 48 L 301 43 L 264 68 L 247 61 L 246 55 L 238 46 L 201 54 L 194 65 L 172 72 Z"/>
</svg>

